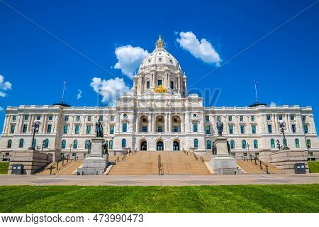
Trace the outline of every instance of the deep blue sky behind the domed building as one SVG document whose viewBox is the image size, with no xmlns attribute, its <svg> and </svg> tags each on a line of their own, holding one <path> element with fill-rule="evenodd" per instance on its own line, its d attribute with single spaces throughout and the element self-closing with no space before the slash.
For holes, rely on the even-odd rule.
<svg viewBox="0 0 319 227">
<path fill-rule="evenodd" d="M 114 68 L 116 48 L 151 52 L 158 35 L 194 84 L 218 66 L 181 47 L 181 32 L 191 32 L 221 59 L 221 67 L 195 86 L 220 89 L 216 106 L 252 104 L 257 79 L 259 101 L 313 106 L 319 127 L 319 4 L 223 65 L 315 1 L 4 1 L 16 11 L 0 1 L 0 75 L 11 84 L 6 90 L 0 84 L 3 109 L 58 102 L 64 80 L 67 103 L 96 106 L 92 78 L 133 84 Z M 1 111 L 0 128 L 3 122 Z"/>
</svg>

